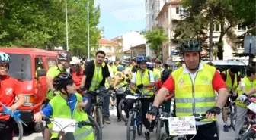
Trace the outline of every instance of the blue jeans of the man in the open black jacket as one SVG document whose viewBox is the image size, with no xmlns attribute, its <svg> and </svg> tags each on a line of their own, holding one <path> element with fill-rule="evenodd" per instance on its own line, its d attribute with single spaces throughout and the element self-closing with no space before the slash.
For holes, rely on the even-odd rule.
<svg viewBox="0 0 256 140">
<path fill-rule="evenodd" d="M 101 91 L 102 89 L 105 89 L 104 86 L 101 86 L 99 88 L 99 90 Z M 103 117 L 110 117 L 110 110 L 109 110 L 109 106 L 110 106 L 110 94 L 109 93 L 104 93 L 101 95 L 104 98 L 104 103 L 103 103 Z M 88 98 L 88 105 L 84 108 L 85 112 L 88 115 L 91 115 L 91 101 L 92 98 L 94 98 L 94 95 L 91 94 L 85 94 L 85 97 Z"/>
</svg>

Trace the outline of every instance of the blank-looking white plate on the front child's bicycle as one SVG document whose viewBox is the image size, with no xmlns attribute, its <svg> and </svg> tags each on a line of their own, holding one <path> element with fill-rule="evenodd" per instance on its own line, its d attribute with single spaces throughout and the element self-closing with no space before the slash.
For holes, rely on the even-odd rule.
<svg viewBox="0 0 256 140">
<path fill-rule="evenodd" d="M 56 117 L 53 121 L 53 131 L 75 132 L 75 120 Z M 65 129 L 63 129 L 65 128 Z"/>
</svg>

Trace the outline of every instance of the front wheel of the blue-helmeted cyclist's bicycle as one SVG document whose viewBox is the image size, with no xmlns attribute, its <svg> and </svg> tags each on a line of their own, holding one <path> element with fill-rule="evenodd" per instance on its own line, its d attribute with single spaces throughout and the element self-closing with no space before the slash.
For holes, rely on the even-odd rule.
<svg viewBox="0 0 256 140">
<path fill-rule="evenodd" d="M 126 138 L 127 140 L 135 140 L 136 136 L 136 126 L 135 126 L 135 120 L 134 120 L 134 114 L 130 114 L 130 117 L 128 119 L 127 123 L 127 129 L 126 129 Z M 130 132 L 132 132 L 132 136 L 130 135 Z"/>
</svg>

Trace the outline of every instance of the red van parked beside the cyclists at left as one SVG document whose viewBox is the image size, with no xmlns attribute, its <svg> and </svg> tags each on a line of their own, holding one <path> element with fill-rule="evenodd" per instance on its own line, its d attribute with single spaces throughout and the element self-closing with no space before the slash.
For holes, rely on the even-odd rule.
<svg viewBox="0 0 256 140">
<path fill-rule="evenodd" d="M 10 55 L 11 63 L 8 75 L 18 79 L 25 95 L 25 104 L 19 107 L 24 123 L 40 132 L 40 124 L 34 123 L 34 114 L 42 107 L 46 99 L 46 71 L 56 65 L 56 51 L 37 48 L 0 48 Z"/>
</svg>

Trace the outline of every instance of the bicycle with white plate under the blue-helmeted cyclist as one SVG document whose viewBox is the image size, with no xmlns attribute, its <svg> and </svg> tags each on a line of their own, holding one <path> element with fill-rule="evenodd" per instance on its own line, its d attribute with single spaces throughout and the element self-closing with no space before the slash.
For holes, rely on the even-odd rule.
<svg viewBox="0 0 256 140">
<path fill-rule="evenodd" d="M 135 140 L 136 130 L 138 135 L 142 135 L 142 103 L 141 99 L 150 97 L 151 95 L 143 95 L 142 93 L 137 93 L 135 95 L 127 95 L 126 98 L 133 99 L 133 108 L 129 111 L 129 119 L 126 129 L 127 140 Z M 132 130 L 131 130 L 132 128 Z M 130 132 L 133 132 L 132 138 L 130 138 Z"/>
</svg>

